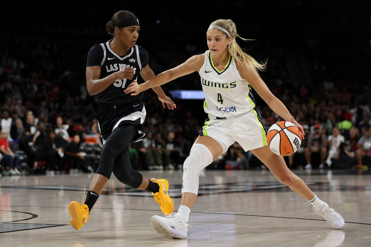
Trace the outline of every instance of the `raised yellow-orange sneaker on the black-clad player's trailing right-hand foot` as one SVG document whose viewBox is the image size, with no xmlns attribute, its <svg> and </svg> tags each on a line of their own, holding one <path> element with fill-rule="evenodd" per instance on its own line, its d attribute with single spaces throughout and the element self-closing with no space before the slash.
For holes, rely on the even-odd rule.
<svg viewBox="0 0 371 247">
<path fill-rule="evenodd" d="M 174 201 L 168 194 L 169 182 L 166 179 L 152 178 L 151 181 L 160 186 L 160 190 L 156 193 L 152 193 L 155 197 L 155 201 L 160 205 L 161 211 L 164 214 L 172 214 L 174 211 Z"/>
</svg>

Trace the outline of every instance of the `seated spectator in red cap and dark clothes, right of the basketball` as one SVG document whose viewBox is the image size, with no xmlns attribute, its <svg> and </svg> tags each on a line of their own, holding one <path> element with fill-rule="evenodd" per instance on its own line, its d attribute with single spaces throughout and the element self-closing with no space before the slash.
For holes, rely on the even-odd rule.
<svg viewBox="0 0 371 247">
<path fill-rule="evenodd" d="M 312 157 L 320 160 L 319 168 L 324 168 L 324 162 L 327 155 L 326 135 L 321 130 L 321 125 L 314 125 L 314 133 L 309 135 L 308 145 L 305 148 L 305 169 L 312 169 Z"/>
</svg>

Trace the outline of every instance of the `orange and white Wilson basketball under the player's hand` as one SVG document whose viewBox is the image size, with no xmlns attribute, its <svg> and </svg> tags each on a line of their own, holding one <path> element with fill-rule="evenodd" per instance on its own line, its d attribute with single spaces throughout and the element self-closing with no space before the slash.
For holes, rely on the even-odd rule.
<svg viewBox="0 0 371 247">
<path fill-rule="evenodd" d="M 299 128 L 288 121 L 273 124 L 267 133 L 267 143 L 270 150 L 281 156 L 288 156 L 298 151 L 301 141 Z"/>
</svg>

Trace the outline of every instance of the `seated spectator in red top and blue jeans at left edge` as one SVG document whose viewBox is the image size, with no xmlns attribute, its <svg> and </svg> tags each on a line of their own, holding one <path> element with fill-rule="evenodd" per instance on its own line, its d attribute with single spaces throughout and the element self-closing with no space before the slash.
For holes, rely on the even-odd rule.
<svg viewBox="0 0 371 247">
<path fill-rule="evenodd" d="M 8 131 L 0 131 L 0 152 L 4 157 L 4 160 L 7 161 L 6 169 L 8 170 L 9 175 L 20 175 L 19 167 L 19 155 L 14 154 L 10 149 L 8 141 Z"/>
</svg>

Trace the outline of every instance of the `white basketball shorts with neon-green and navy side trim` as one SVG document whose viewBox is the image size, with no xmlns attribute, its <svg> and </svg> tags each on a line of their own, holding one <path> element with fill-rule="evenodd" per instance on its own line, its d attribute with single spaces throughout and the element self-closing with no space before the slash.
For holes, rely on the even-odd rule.
<svg viewBox="0 0 371 247">
<path fill-rule="evenodd" d="M 262 123 L 260 111 L 253 109 L 248 113 L 225 119 L 206 119 L 200 136 L 209 136 L 223 143 L 223 153 L 237 141 L 244 151 L 267 146 L 267 129 Z"/>
</svg>

